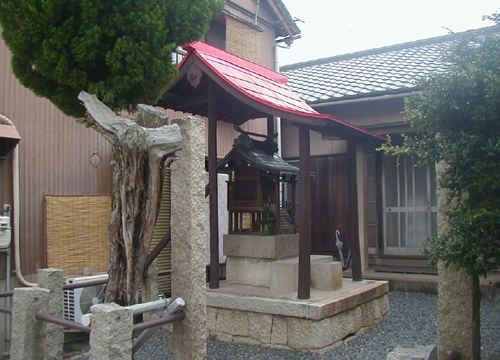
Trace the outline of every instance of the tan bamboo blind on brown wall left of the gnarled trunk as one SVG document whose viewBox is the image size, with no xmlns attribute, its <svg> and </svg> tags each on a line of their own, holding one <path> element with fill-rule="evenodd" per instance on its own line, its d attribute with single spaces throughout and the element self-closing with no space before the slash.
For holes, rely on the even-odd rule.
<svg viewBox="0 0 500 360">
<path fill-rule="evenodd" d="M 64 276 L 107 272 L 109 195 L 46 195 L 47 266 Z"/>
</svg>

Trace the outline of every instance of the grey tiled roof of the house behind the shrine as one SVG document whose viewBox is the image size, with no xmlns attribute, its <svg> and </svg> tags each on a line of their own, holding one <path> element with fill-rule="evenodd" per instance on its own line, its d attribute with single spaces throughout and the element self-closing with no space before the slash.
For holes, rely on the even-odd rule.
<svg viewBox="0 0 500 360">
<path fill-rule="evenodd" d="M 475 30 L 498 32 L 499 26 Z M 288 86 L 311 105 L 408 93 L 421 76 L 445 71 L 442 49 L 459 34 L 287 65 Z"/>
</svg>

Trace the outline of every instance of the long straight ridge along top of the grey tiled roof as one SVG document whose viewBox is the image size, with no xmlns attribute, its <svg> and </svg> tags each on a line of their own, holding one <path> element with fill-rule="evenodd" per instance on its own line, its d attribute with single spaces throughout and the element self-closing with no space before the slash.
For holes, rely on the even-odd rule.
<svg viewBox="0 0 500 360">
<path fill-rule="evenodd" d="M 330 63 L 330 62 L 337 62 L 340 60 L 359 58 L 362 56 L 369 56 L 369 55 L 375 55 L 375 54 L 388 53 L 391 51 L 397 51 L 397 50 L 402 50 L 402 49 L 415 48 L 415 47 L 424 46 L 424 45 L 444 43 L 446 41 L 454 40 L 454 39 L 458 38 L 459 36 L 462 36 L 462 35 L 467 34 L 467 33 L 474 34 L 474 35 L 482 35 L 482 34 L 488 34 L 488 33 L 494 33 L 494 32 L 500 32 L 500 25 L 493 25 L 493 26 L 488 26 L 488 27 L 479 28 L 479 29 L 462 31 L 462 32 L 458 32 L 458 33 L 450 33 L 450 34 L 446 34 L 446 35 L 435 36 L 435 37 L 427 38 L 427 39 L 408 41 L 405 43 L 388 45 L 388 46 L 383 46 L 383 47 L 379 47 L 379 48 L 361 50 L 361 51 L 356 51 L 356 52 L 342 54 L 342 55 L 335 55 L 335 56 L 330 56 L 330 57 L 325 57 L 325 58 L 320 58 L 320 59 L 315 59 L 315 60 L 303 61 L 303 62 L 299 62 L 299 63 L 295 63 L 295 64 L 283 65 L 280 67 L 280 72 L 294 70 L 294 69 L 300 69 L 300 68 L 304 68 L 304 67 L 310 67 L 313 65 L 321 65 L 321 64 L 326 64 L 326 63 Z"/>
</svg>

